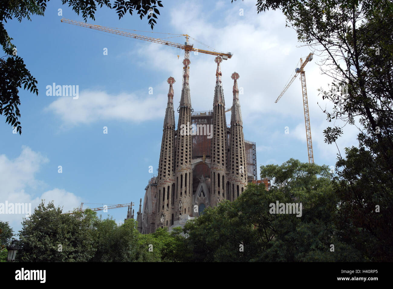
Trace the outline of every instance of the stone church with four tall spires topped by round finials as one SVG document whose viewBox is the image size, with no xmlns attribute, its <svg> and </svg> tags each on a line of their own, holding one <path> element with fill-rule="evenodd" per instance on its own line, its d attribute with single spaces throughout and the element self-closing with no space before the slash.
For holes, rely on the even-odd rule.
<svg viewBox="0 0 393 289">
<path fill-rule="evenodd" d="M 215 62 L 217 70 L 213 110 L 193 113 L 189 87 L 190 61 L 184 59 L 177 130 L 173 107 L 175 80 L 173 77 L 167 80 L 168 103 L 158 175 L 152 177 L 146 186 L 143 210 L 141 214 L 138 212 L 138 230 L 143 234 L 152 233 L 161 227 L 178 226 L 190 217 L 203 214 L 204 208 L 217 206 L 223 200 L 234 201 L 246 188 L 248 177 L 255 177 L 247 175 L 237 87 L 239 74 L 234 72 L 231 76 L 234 81 L 233 104 L 228 127 L 221 81 L 222 58 L 216 57 Z M 200 121 L 198 125 L 196 118 Z"/>
</svg>

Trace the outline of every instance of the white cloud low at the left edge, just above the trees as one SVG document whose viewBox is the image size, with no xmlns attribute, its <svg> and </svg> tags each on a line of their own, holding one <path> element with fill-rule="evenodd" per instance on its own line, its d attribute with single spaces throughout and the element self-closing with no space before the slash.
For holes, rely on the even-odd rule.
<svg viewBox="0 0 393 289">
<path fill-rule="evenodd" d="M 48 158 L 27 146 L 22 146 L 20 155 L 13 160 L 6 155 L 0 155 L 0 203 L 5 204 L 6 201 L 13 204 L 28 203 L 31 204 L 30 213 L 41 199 L 45 199 L 46 204 L 54 200 L 56 206 L 64 206 L 64 211 L 76 208 L 81 203 L 81 199 L 64 189 L 54 188 L 41 195 L 32 192 L 44 191 L 48 186 L 35 177 L 41 166 L 48 162 Z M 25 216 L 26 214 L 0 214 L 0 220 L 10 222 L 10 226 L 17 233 Z"/>
</svg>

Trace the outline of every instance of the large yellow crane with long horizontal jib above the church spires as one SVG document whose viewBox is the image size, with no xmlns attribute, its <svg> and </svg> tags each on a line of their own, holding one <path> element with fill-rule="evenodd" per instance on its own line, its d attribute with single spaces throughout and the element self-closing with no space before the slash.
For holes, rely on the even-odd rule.
<svg viewBox="0 0 393 289">
<path fill-rule="evenodd" d="M 91 28 L 91 29 L 95 29 L 95 30 L 99 30 L 99 31 L 104 31 L 104 32 L 108 32 L 108 33 L 113 33 L 113 34 L 117 34 L 117 35 L 121 35 L 121 36 L 125 36 L 125 37 L 131 37 L 131 38 L 135 38 L 135 39 L 140 39 L 140 40 L 145 40 L 145 41 L 150 41 L 150 42 L 154 42 L 154 43 L 158 43 L 158 44 L 164 44 L 164 45 L 180 48 L 180 49 L 184 50 L 184 58 L 189 58 L 190 51 L 221 56 L 222 59 L 224 59 L 224 60 L 231 58 L 233 55 L 231 52 L 224 53 L 224 52 L 216 52 L 216 51 L 209 51 L 209 50 L 194 48 L 194 44 L 189 43 L 189 38 L 192 38 L 192 37 L 190 37 L 188 34 L 177 34 L 179 36 L 185 37 L 185 43 L 183 45 L 183 44 L 171 42 L 171 41 L 168 41 L 165 39 L 147 37 L 147 36 L 138 35 L 135 33 L 121 31 L 118 29 L 110 28 L 110 27 L 88 24 L 88 23 L 84 23 L 84 22 L 80 22 L 80 21 L 76 21 L 76 20 L 70 20 L 70 19 L 66 19 L 66 18 L 62 18 L 61 22 L 73 24 L 73 25 L 77 25 L 77 26 L 82 26 L 85 28 Z M 137 31 L 137 30 L 134 30 L 134 31 Z M 164 33 L 164 34 L 171 34 L 171 33 Z"/>
</svg>

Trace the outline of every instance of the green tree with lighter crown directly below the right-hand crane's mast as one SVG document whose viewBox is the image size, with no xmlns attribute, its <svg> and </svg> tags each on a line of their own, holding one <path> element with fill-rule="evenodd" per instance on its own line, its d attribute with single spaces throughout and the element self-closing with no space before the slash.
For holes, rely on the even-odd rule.
<svg viewBox="0 0 393 289">
<path fill-rule="evenodd" d="M 261 177 L 273 179 L 269 201 L 302 204 L 301 217 L 283 214 L 258 219 L 257 230 L 272 232 L 261 258 L 269 261 L 362 261 L 362 254 L 338 237 L 334 224 L 339 199 L 329 168 L 290 159 L 281 166 L 261 166 Z M 244 208 L 249 202 L 244 203 Z M 257 215 L 258 216 L 258 215 Z M 250 216 L 251 218 L 252 215 Z M 334 245 L 334 251 L 331 251 Z M 273 258 L 272 258 L 273 257 Z"/>
</svg>

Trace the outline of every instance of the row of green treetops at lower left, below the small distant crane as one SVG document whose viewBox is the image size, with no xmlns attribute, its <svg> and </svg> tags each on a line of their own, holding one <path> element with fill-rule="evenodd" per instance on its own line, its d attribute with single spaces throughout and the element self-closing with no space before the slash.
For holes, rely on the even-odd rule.
<svg viewBox="0 0 393 289">
<path fill-rule="evenodd" d="M 118 225 L 85 210 L 62 214 L 44 201 L 25 218 L 19 231 L 18 261 L 26 262 L 133 262 L 185 261 L 190 255 L 181 228 L 154 234 L 138 232 L 134 219 Z"/>
</svg>

